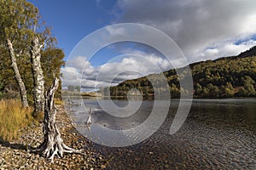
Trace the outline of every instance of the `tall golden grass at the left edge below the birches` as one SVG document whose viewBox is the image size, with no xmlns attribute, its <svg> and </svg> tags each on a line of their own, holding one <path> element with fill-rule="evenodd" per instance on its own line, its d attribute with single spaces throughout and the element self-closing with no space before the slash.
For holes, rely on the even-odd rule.
<svg viewBox="0 0 256 170">
<path fill-rule="evenodd" d="M 34 122 L 32 108 L 24 109 L 19 100 L 0 101 L 0 139 L 10 141 L 17 139 L 19 129 Z"/>
</svg>

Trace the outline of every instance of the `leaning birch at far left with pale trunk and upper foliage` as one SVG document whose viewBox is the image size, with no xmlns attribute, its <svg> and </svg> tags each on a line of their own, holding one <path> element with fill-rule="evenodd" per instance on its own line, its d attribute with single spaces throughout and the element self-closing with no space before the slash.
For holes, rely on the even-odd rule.
<svg viewBox="0 0 256 170">
<path fill-rule="evenodd" d="M 28 107 L 26 87 L 20 76 L 16 57 L 27 54 L 26 44 L 34 34 L 32 27 L 38 24 L 38 8 L 25 0 L 1 0 L 0 6 L 0 40 L 8 48 L 22 105 Z"/>
</svg>

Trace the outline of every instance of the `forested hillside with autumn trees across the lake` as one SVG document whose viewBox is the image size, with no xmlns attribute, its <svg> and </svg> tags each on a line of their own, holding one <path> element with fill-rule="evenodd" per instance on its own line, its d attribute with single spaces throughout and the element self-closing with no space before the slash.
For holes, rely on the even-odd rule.
<svg viewBox="0 0 256 170">
<path fill-rule="evenodd" d="M 256 47 L 237 56 L 201 61 L 189 65 L 194 83 L 195 98 L 232 98 L 256 97 Z M 165 71 L 172 98 L 178 98 L 180 92 L 189 93 L 180 88 L 175 70 Z M 150 75 L 158 82 L 157 74 Z M 147 77 L 128 80 L 110 88 L 112 96 L 125 96 L 131 88 L 137 88 L 143 96 L 154 96 L 152 84 Z M 166 88 L 156 89 L 165 94 Z"/>
</svg>

